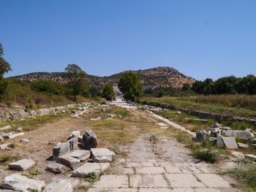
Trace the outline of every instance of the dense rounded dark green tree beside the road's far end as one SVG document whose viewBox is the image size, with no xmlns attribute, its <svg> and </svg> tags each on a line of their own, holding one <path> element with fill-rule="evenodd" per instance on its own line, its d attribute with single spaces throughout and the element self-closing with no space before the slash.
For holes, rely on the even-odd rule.
<svg viewBox="0 0 256 192">
<path fill-rule="evenodd" d="M 124 99 L 135 101 L 136 97 L 142 95 L 142 85 L 135 72 L 125 72 L 118 82 L 119 90 L 124 94 Z"/>
</svg>

